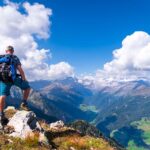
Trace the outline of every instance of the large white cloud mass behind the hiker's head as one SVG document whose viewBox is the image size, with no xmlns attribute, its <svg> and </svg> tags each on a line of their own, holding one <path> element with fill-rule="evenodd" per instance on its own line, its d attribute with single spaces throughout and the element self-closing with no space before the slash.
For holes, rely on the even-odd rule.
<svg viewBox="0 0 150 150">
<path fill-rule="evenodd" d="M 0 53 L 5 52 L 7 45 L 13 45 L 30 80 L 73 76 L 73 68 L 68 63 L 49 65 L 50 50 L 39 49 L 37 39 L 50 37 L 52 10 L 38 3 L 4 2 L 5 5 L 0 6 Z M 20 11 L 20 7 L 24 11 Z"/>
</svg>

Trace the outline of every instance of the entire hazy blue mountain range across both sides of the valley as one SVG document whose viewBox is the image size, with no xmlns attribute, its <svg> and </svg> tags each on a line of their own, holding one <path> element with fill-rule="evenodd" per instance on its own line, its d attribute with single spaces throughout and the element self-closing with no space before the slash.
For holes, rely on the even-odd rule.
<svg viewBox="0 0 150 150">
<path fill-rule="evenodd" d="M 97 126 L 105 136 L 114 137 L 126 147 L 131 143 L 135 146 L 138 143 L 135 138 L 137 135 L 133 134 L 132 137 L 132 134 L 126 133 L 133 131 L 132 123 L 150 117 L 149 81 L 112 82 L 97 90 L 74 78 L 34 81 L 30 85 L 30 107 L 39 117 L 44 116 L 49 122 L 58 119 L 66 122 L 87 120 Z M 19 106 L 21 91 L 13 88 L 11 95 L 14 100 L 8 99 L 7 103 Z M 136 130 L 139 130 L 137 126 Z M 124 139 L 120 134 L 123 132 Z M 149 148 L 149 143 L 143 143 L 138 143 L 139 147 Z"/>
</svg>

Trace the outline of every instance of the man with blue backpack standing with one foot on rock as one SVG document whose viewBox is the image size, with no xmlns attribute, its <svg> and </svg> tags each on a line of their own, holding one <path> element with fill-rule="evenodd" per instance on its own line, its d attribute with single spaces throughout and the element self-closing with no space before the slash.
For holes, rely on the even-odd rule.
<svg viewBox="0 0 150 150">
<path fill-rule="evenodd" d="M 29 110 L 27 99 L 30 93 L 30 86 L 26 80 L 19 58 L 13 54 L 14 48 L 8 46 L 6 48 L 6 54 L 0 58 L 0 129 L 3 129 L 5 99 L 10 95 L 12 85 L 23 90 L 20 109 Z M 17 71 L 20 74 L 17 74 Z"/>
</svg>

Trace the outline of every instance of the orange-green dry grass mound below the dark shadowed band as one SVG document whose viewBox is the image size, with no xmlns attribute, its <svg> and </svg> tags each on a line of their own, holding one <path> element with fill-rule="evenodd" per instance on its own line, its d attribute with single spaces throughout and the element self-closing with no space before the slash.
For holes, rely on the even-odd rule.
<svg viewBox="0 0 150 150">
<path fill-rule="evenodd" d="M 102 138 L 93 138 L 89 136 L 66 136 L 54 139 L 59 145 L 58 150 L 114 150 L 108 142 Z"/>
</svg>

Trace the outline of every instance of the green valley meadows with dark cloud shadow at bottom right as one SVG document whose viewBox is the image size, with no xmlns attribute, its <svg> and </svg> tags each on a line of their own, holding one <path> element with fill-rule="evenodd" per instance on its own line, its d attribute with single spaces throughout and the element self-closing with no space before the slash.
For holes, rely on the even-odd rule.
<svg viewBox="0 0 150 150">
<path fill-rule="evenodd" d="M 142 118 L 131 123 L 130 127 L 122 130 L 114 130 L 111 137 L 117 137 L 117 141 L 126 141 L 128 150 L 150 149 L 150 119 Z"/>
</svg>

